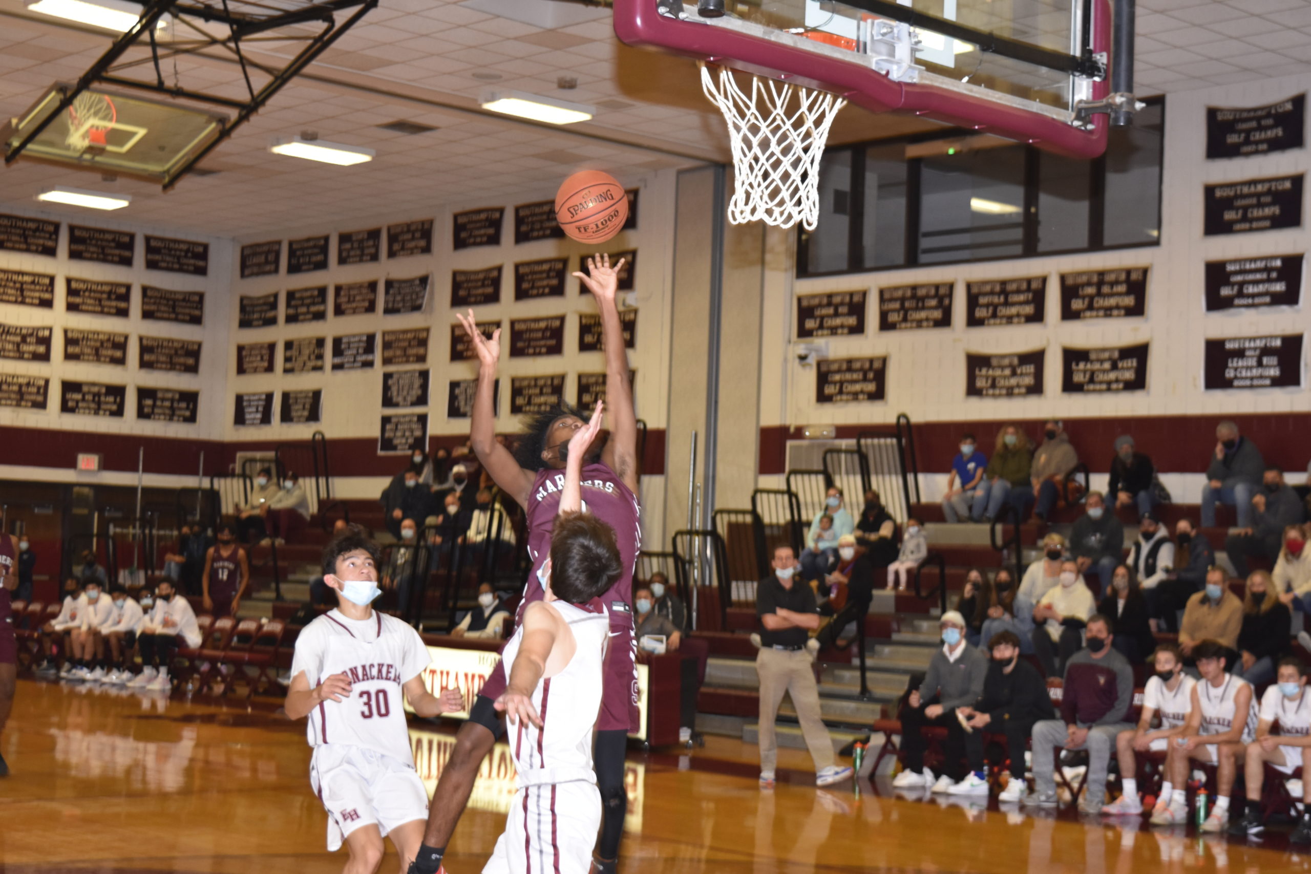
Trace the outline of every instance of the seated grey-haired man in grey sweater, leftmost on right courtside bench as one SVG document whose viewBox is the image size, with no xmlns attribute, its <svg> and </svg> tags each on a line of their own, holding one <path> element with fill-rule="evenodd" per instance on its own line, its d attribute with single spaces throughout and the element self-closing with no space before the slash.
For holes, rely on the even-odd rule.
<svg viewBox="0 0 1311 874">
<path fill-rule="evenodd" d="M 965 617 L 956 611 L 943 613 L 943 649 L 933 653 L 924 681 L 910 693 L 901 712 L 902 773 L 893 781 L 898 789 L 932 786 L 933 791 L 953 794 L 987 794 L 983 770 L 983 735 L 966 731 L 956 714 L 957 708 L 973 708 L 983 694 L 987 656 L 965 639 Z M 944 773 L 933 780 L 924 767 L 927 742 L 924 729 L 947 729 Z M 968 770 L 961 770 L 961 759 Z M 956 774 L 953 778 L 950 774 Z"/>
</svg>

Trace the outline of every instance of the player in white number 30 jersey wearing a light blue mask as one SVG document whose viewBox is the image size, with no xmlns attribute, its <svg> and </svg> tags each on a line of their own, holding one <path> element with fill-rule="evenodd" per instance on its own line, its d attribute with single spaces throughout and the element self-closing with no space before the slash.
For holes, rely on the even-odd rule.
<svg viewBox="0 0 1311 874">
<path fill-rule="evenodd" d="M 423 685 L 431 659 L 418 632 L 370 607 L 382 594 L 378 544 L 358 527 L 328 544 L 324 583 L 337 590 L 337 609 L 296 638 L 284 708 L 292 719 L 309 717 L 309 782 L 328 811 L 328 849 L 345 843 L 346 873 L 372 874 L 391 837 L 404 871 L 423 837 L 427 791 L 401 696 L 421 717 L 464 704 L 458 689 L 434 696 Z"/>
</svg>

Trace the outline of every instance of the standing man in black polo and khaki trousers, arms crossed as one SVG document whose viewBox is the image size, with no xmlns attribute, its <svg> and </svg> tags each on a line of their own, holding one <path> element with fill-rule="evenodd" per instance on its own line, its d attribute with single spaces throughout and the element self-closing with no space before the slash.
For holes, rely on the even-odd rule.
<svg viewBox="0 0 1311 874">
<path fill-rule="evenodd" d="M 815 784 L 829 786 L 851 777 L 851 768 L 834 764 L 832 739 L 819 715 L 819 687 L 806 649 L 809 633 L 819 628 L 810 587 L 794 579 L 797 557 L 792 546 L 773 548 L 773 573 L 756 586 L 755 615 L 760 651 L 755 672 L 760 680 L 760 785 L 772 789 L 779 756 L 773 722 L 784 693 L 801 723 L 801 734 L 815 765 Z"/>
</svg>

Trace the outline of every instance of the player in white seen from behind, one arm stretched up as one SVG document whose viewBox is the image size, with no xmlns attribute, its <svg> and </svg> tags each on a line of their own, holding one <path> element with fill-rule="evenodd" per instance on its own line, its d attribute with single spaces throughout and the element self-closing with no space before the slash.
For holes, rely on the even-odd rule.
<svg viewBox="0 0 1311 874">
<path fill-rule="evenodd" d="M 610 638 L 610 617 L 597 599 L 624 573 L 615 531 L 582 511 L 583 449 L 599 430 L 600 404 L 569 442 L 545 598 L 528 604 L 502 655 L 510 676 L 496 709 L 507 717 L 519 786 L 482 874 L 591 869 L 600 828 L 591 734 Z"/>
</svg>

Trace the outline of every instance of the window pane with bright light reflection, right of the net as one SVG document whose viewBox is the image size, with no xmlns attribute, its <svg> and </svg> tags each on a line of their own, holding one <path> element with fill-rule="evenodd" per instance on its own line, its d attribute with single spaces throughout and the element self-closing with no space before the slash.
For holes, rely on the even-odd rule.
<svg viewBox="0 0 1311 874">
<path fill-rule="evenodd" d="M 1023 254 L 1024 147 L 923 159 L 919 262 Z"/>
</svg>

